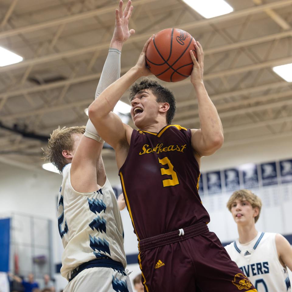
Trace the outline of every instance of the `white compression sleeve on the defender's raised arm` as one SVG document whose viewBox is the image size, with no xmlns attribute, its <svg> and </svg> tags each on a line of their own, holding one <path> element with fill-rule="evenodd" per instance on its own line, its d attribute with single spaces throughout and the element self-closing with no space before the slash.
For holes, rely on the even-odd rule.
<svg viewBox="0 0 292 292">
<path fill-rule="evenodd" d="M 99 78 L 99 82 L 96 88 L 95 98 L 97 98 L 104 89 L 120 78 L 121 71 L 121 51 L 110 48 L 106 61 L 103 65 L 103 71 Z M 89 119 L 84 135 L 88 138 L 94 139 L 100 143 L 104 143 L 103 139 L 99 137 L 94 125 Z"/>
</svg>

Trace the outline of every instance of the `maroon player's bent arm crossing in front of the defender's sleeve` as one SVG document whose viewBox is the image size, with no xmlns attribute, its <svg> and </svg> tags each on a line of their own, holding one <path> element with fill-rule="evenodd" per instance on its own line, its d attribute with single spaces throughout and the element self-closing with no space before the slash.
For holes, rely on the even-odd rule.
<svg viewBox="0 0 292 292">
<path fill-rule="evenodd" d="M 133 82 L 142 76 L 151 74 L 145 66 L 146 49 L 150 40 L 151 37 L 145 43 L 137 64 L 116 82 L 109 85 L 88 108 L 89 118 L 100 136 L 115 150 L 130 143 L 129 135 L 126 133 L 131 133 L 132 129 L 123 124 L 111 110 Z"/>
</svg>

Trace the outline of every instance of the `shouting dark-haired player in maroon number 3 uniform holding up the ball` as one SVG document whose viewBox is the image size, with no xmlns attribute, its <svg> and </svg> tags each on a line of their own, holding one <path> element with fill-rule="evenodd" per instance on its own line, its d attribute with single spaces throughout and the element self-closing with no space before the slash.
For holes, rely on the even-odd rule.
<svg viewBox="0 0 292 292">
<path fill-rule="evenodd" d="M 127 88 L 142 76 L 145 43 L 137 64 L 89 106 L 99 134 L 116 151 L 127 208 L 139 241 L 144 289 L 156 291 L 256 291 L 208 231 L 209 214 L 198 184 L 200 158 L 223 143 L 217 110 L 203 84 L 203 49 L 196 43 L 190 81 L 196 92 L 201 129 L 172 125 L 175 98 L 157 82 L 143 80 L 130 91 L 131 116 L 139 130 L 111 112 Z M 239 287 L 239 288 L 238 288 Z"/>
</svg>

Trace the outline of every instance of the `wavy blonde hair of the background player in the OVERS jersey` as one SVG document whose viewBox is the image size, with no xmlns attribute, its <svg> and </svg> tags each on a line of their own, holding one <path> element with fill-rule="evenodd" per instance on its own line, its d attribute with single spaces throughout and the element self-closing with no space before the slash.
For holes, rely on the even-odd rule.
<svg viewBox="0 0 292 292">
<path fill-rule="evenodd" d="M 258 196 L 256 196 L 254 193 L 252 193 L 250 190 L 239 189 L 238 191 L 235 191 L 231 195 L 226 205 L 230 212 L 231 212 L 232 203 L 235 200 L 248 201 L 252 205 L 252 208 L 255 208 L 255 207 L 259 208 L 259 214 L 261 213 L 262 200 Z M 255 223 L 259 219 L 259 214 L 255 217 Z"/>
</svg>

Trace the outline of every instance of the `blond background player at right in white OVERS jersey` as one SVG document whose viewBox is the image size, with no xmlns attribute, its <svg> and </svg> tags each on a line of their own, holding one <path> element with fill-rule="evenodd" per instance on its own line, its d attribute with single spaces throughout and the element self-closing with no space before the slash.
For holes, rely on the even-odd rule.
<svg viewBox="0 0 292 292">
<path fill-rule="evenodd" d="M 260 198 L 247 189 L 231 195 L 227 208 L 239 238 L 225 249 L 259 292 L 291 291 L 287 267 L 292 270 L 292 247 L 279 233 L 255 229 L 261 207 Z"/>
</svg>

